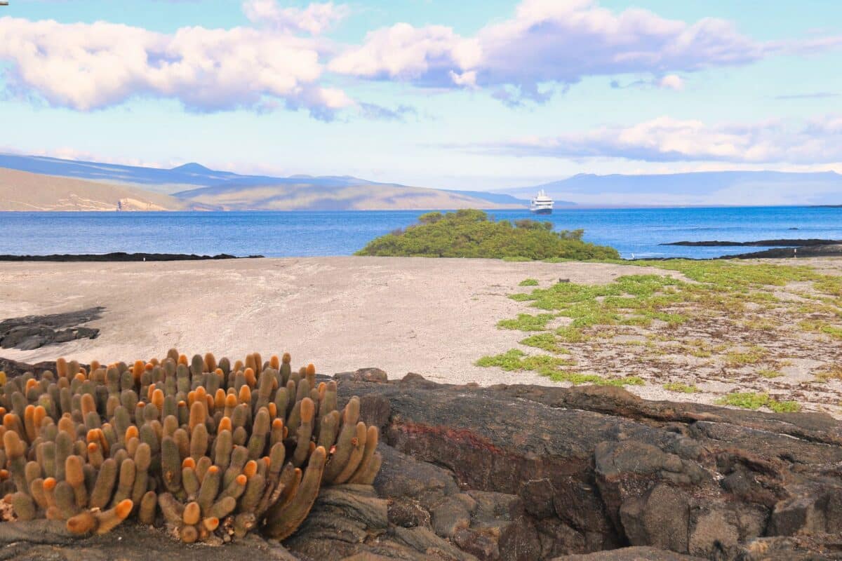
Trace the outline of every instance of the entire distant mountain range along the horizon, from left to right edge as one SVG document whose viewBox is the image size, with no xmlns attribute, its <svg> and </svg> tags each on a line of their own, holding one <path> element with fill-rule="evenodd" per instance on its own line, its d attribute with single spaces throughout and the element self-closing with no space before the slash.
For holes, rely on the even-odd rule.
<svg viewBox="0 0 842 561">
<path fill-rule="evenodd" d="M 583 173 L 488 193 L 351 176 L 241 175 L 197 163 L 162 169 L 0 154 L 0 210 L 525 209 L 539 189 L 557 208 L 842 204 L 842 175 L 834 172 Z"/>
</svg>

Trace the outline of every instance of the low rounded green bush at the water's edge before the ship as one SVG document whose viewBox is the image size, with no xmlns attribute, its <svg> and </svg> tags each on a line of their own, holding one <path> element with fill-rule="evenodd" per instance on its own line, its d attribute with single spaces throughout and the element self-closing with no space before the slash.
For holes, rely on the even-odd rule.
<svg viewBox="0 0 842 561">
<path fill-rule="evenodd" d="M 506 260 L 618 259 L 617 251 L 582 241 L 583 230 L 552 231 L 535 220 L 494 221 L 482 210 L 431 212 L 418 224 L 370 241 L 356 255 L 379 257 L 485 257 Z"/>
</svg>

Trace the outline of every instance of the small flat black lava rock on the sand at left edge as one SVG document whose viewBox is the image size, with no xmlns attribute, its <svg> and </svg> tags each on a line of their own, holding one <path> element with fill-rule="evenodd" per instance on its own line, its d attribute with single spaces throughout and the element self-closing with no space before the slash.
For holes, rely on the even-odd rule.
<svg viewBox="0 0 842 561">
<path fill-rule="evenodd" d="M 99 329 L 80 324 L 99 320 L 105 309 L 88 308 L 50 315 L 26 315 L 0 321 L 0 348 L 31 351 L 77 339 L 96 339 Z"/>
</svg>

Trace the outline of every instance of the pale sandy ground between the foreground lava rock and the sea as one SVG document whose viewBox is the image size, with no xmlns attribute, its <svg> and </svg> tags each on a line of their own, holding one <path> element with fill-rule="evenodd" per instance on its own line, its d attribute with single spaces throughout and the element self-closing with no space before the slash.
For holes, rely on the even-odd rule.
<svg viewBox="0 0 842 561">
<path fill-rule="evenodd" d="M 842 274 L 842 259 L 797 264 Z M 498 329 L 498 320 L 541 312 L 508 296 L 531 290 L 518 286 L 525 278 L 546 288 L 560 279 L 610 283 L 645 273 L 681 278 L 664 269 L 602 263 L 405 257 L 0 263 L 0 320 L 105 308 L 100 320 L 87 325 L 101 330 L 95 340 L 25 352 L 0 349 L 0 356 L 29 363 L 56 357 L 110 363 L 162 357 L 170 347 L 232 359 L 255 351 L 264 357 L 290 352 L 295 365 L 315 363 L 326 374 L 379 367 L 390 378 L 413 372 L 452 384 L 556 385 L 530 371 L 475 366 L 479 357 L 513 348 L 546 354 L 519 344 L 530 333 Z M 775 296 L 797 302 L 807 290 L 796 283 L 776 288 Z M 791 329 L 788 324 L 799 318 L 788 316 L 790 310 L 773 307 L 752 316 L 777 321 L 774 331 L 718 317 L 678 328 L 656 321 L 647 329 L 598 329 L 588 341 L 563 346 L 579 373 L 641 377 L 645 384 L 626 389 L 646 399 L 712 404 L 728 392 L 764 392 L 842 418 L 842 378 L 815 383 L 816 373 L 842 365 L 842 344 Z M 557 317 L 547 328 L 569 321 Z M 688 341 L 706 347 L 724 343 L 724 350 L 718 357 L 699 357 Z M 728 351 L 750 350 L 759 341 L 766 355 L 758 363 L 739 368 L 723 362 Z M 767 379 L 759 375 L 764 368 L 780 372 Z M 669 391 L 666 383 L 692 384 L 695 393 Z"/>
</svg>

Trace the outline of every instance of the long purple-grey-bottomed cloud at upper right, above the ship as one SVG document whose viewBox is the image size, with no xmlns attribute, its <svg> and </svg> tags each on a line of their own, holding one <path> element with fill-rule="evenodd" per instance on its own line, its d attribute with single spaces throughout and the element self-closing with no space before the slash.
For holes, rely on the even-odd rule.
<svg viewBox="0 0 842 561">
<path fill-rule="evenodd" d="M 523 0 L 514 18 L 488 24 L 473 37 L 437 25 L 378 29 L 329 67 L 420 86 L 491 87 L 496 97 L 510 103 L 515 98 L 541 102 L 549 97 L 541 84 L 563 89 L 588 76 L 670 73 L 663 86 L 675 89 L 680 78 L 674 72 L 742 65 L 784 50 L 804 54 L 837 46 L 838 38 L 760 43 L 722 19 L 688 24 L 638 8 L 615 13 L 594 0 Z"/>
</svg>

